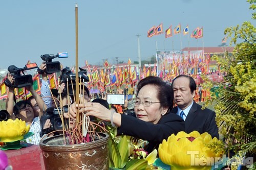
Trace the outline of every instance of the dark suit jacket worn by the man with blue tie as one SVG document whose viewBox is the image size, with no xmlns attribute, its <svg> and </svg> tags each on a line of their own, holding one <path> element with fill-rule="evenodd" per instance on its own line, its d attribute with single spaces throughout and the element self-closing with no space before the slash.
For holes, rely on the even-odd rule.
<svg viewBox="0 0 256 170">
<path fill-rule="evenodd" d="M 178 108 L 174 107 L 171 113 L 177 114 Z M 219 129 L 215 121 L 216 114 L 210 109 L 203 109 L 195 101 L 185 119 L 185 132 L 198 131 L 200 134 L 208 132 L 212 138 L 219 139 Z"/>
</svg>

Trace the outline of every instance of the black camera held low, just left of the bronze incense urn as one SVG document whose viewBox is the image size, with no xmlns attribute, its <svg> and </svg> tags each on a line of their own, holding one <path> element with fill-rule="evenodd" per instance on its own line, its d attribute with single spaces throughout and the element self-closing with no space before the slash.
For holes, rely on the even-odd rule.
<svg viewBox="0 0 256 170">
<path fill-rule="evenodd" d="M 62 113 L 65 113 L 65 112 L 68 112 L 68 107 L 63 107 Z M 47 134 L 55 130 L 61 130 L 63 126 L 65 126 L 66 129 L 68 129 L 69 127 L 68 119 L 63 118 L 64 125 L 62 125 L 62 121 L 59 113 L 61 114 L 60 108 L 54 109 L 53 107 L 49 107 L 46 109 L 44 115 L 42 115 L 40 118 L 40 126 L 42 129 L 42 134 Z M 43 129 L 47 119 L 50 119 L 51 127 L 47 129 Z"/>
</svg>

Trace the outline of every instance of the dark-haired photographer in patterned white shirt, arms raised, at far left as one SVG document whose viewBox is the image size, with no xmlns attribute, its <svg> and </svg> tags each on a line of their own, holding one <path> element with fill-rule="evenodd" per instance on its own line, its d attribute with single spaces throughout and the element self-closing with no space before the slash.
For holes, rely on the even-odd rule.
<svg viewBox="0 0 256 170">
<path fill-rule="evenodd" d="M 13 76 L 8 74 L 7 79 L 13 83 Z M 28 101 L 19 101 L 13 107 L 14 102 L 14 88 L 9 87 L 8 99 L 6 102 L 6 110 L 10 114 L 10 118 L 15 119 L 19 118 L 26 122 L 27 125 L 30 125 L 30 132 L 34 133 L 34 136 L 31 136 L 27 139 L 28 143 L 31 144 L 39 144 L 40 136 L 39 133 L 41 131 L 39 119 L 42 116 L 42 110 L 46 110 L 46 105 L 44 101 L 40 98 L 40 96 L 33 89 L 33 86 L 25 87 L 28 91 L 30 91 L 40 108 L 39 116 L 34 118 L 34 111 L 32 109 L 32 105 Z M 14 113 L 14 114 L 13 114 Z"/>
</svg>

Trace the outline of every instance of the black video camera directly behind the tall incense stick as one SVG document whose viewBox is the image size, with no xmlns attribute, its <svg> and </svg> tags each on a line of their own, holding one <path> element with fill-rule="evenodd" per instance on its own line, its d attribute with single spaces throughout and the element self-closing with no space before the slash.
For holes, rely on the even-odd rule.
<svg viewBox="0 0 256 170">
<path fill-rule="evenodd" d="M 87 70 L 86 69 L 82 69 L 80 68 L 80 71 L 78 72 L 78 81 L 79 82 L 89 82 L 89 78 L 87 76 Z M 67 87 L 67 82 L 69 83 L 68 87 Z M 66 96 L 68 95 L 68 88 L 69 88 L 69 95 L 73 95 L 73 88 L 72 88 L 72 84 L 73 87 L 75 89 L 75 84 L 76 84 L 76 74 L 74 74 L 71 69 L 69 67 L 63 68 L 61 70 L 61 75 L 60 75 L 60 83 L 65 83 L 66 86 L 63 89 L 63 92 L 61 93 L 62 96 Z"/>
</svg>

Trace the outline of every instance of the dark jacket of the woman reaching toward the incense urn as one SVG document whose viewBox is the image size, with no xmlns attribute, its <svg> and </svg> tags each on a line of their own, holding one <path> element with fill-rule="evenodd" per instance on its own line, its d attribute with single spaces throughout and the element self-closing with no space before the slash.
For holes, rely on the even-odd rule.
<svg viewBox="0 0 256 170">
<path fill-rule="evenodd" d="M 166 139 L 180 131 L 185 130 L 184 120 L 177 114 L 165 114 L 155 125 L 145 122 L 131 115 L 121 114 L 121 126 L 118 134 L 125 134 L 149 141 L 146 151 L 158 150 L 158 145 Z"/>
</svg>

